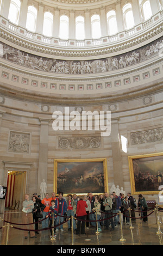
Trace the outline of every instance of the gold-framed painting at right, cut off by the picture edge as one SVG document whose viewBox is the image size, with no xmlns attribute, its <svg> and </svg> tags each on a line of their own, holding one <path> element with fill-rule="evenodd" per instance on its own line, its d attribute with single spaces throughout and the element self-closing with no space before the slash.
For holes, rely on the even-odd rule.
<svg viewBox="0 0 163 256">
<path fill-rule="evenodd" d="M 163 187 L 163 153 L 128 156 L 132 194 L 158 194 Z"/>
</svg>

